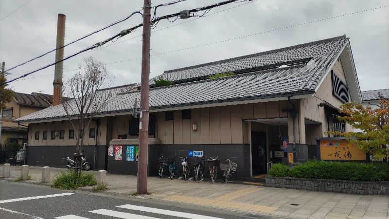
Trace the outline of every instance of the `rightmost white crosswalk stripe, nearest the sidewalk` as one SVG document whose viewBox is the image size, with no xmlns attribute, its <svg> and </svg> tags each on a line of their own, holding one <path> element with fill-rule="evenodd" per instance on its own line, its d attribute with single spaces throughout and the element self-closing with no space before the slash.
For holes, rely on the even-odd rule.
<svg viewBox="0 0 389 219">
<path fill-rule="evenodd" d="M 131 209 L 131 210 L 137 210 L 137 211 L 146 211 L 156 214 L 162 214 L 162 215 L 170 215 L 180 218 L 189 218 L 189 219 L 220 219 L 210 216 L 204 216 L 204 215 L 196 215 L 191 213 L 185 213 L 185 212 L 179 212 L 179 211 L 170 211 L 170 210 L 164 210 L 159 208 L 150 208 L 150 207 L 143 207 L 143 206 L 137 206 L 132 204 L 124 204 L 117 206 L 119 208 L 125 208 L 125 209 Z"/>
</svg>

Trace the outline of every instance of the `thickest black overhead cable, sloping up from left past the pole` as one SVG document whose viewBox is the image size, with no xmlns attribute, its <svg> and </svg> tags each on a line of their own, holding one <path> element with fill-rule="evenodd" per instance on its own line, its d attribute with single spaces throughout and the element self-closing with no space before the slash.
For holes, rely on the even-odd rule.
<svg viewBox="0 0 389 219">
<path fill-rule="evenodd" d="M 237 1 L 237 0 L 226 0 L 226 1 L 221 1 L 221 2 L 218 2 L 218 3 L 212 4 L 212 5 L 208 5 L 208 6 L 204 6 L 204 7 L 199 7 L 199 8 L 191 9 L 191 10 L 189 10 L 189 12 L 193 13 L 193 12 L 199 12 L 199 11 L 209 10 L 209 9 L 211 9 L 211 8 L 213 8 L 213 7 L 218 7 L 218 6 L 221 6 L 221 5 L 225 5 L 225 4 L 234 2 L 234 1 Z M 179 1 L 177 1 L 177 2 L 179 2 Z M 177 2 L 176 2 L 176 3 L 177 3 Z M 132 13 L 129 17 L 131 17 L 132 15 L 134 15 L 134 14 L 136 14 L 136 13 L 140 13 L 140 12 L 134 12 L 134 13 Z M 174 17 L 177 17 L 177 16 L 179 16 L 179 15 L 180 15 L 180 12 L 175 13 L 175 14 L 170 14 L 170 15 L 161 16 L 161 17 L 158 17 L 158 18 L 156 17 L 154 20 L 150 21 L 150 25 L 153 26 L 154 24 L 158 24 L 158 22 L 159 22 L 160 20 L 162 20 L 162 19 L 174 18 Z M 53 66 L 53 65 L 55 65 L 55 64 L 57 64 L 57 63 L 59 63 L 59 62 L 62 62 L 62 61 L 64 61 L 64 60 L 67 60 L 67 59 L 69 59 L 69 58 L 71 58 L 71 57 L 73 57 L 73 56 L 76 56 L 76 55 L 79 55 L 79 54 L 81 54 L 81 53 L 84 53 L 84 52 L 86 52 L 86 51 L 88 51 L 88 50 L 92 50 L 92 49 L 94 49 L 94 48 L 100 47 L 100 46 L 106 44 L 107 42 L 112 41 L 113 39 L 115 39 L 115 38 L 117 38 L 117 37 L 124 37 L 125 35 L 127 35 L 127 34 L 133 32 L 133 31 L 135 31 L 137 28 L 139 28 L 139 27 L 141 27 L 141 26 L 143 26 L 142 23 L 141 23 L 141 24 L 138 24 L 137 26 L 134 26 L 134 27 L 125 29 L 125 30 L 121 31 L 119 34 L 117 34 L 117 35 L 115 35 L 115 36 L 113 36 L 113 37 L 110 37 L 110 38 L 108 38 L 108 39 L 106 39 L 106 40 L 104 40 L 104 41 L 102 41 L 102 42 L 98 42 L 98 43 L 94 44 L 93 46 L 90 46 L 90 47 L 88 47 L 88 48 L 86 48 L 86 49 L 84 49 L 84 50 L 81 50 L 81 51 L 79 51 L 79 52 L 77 52 L 77 53 L 75 53 L 75 54 L 73 54 L 73 55 L 67 56 L 66 58 L 64 58 L 64 59 L 62 59 L 62 60 L 59 60 L 59 61 L 54 62 L 54 63 L 51 63 L 51 64 L 46 65 L 46 66 L 44 66 L 44 67 L 40 67 L 40 68 L 38 68 L 38 69 L 36 69 L 36 70 L 34 70 L 34 71 L 32 71 L 32 72 L 25 73 L 25 74 L 23 74 L 23 75 L 21 75 L 21 76 L 18 76 L 18 77 L 14 78 L 14 79 L 12 79 L 12 80 L 10 80 L 10 81 L 7 81 L 7 82 L 1 84 L 0 86 L 5 85 L 5 84 L 8 84 L 8 83 L 11 83 L 11 82 L 13 82 L 13 81 L 16 81 L 16 80 L 18 80 L 18 79 L 20 79 L 20 78 L 26 77 L 26 76 L 28 76 L 28 75 L 30 75 L 30 74 L 32 74 L 32 73 L 38 72 L 38 71 L 40 71 L 40 70 L 46 69 L 46 68 L 48 68 L 48 67 L 50 67 L 50 66 Z M 69 45 L 69 44 L 67 44 L 67 45 Z M 65 45 L 65 46 L 66 46 L 66 45 Z M 65 46 L 64 46 L 64 47 L 65 47 Z M 63 48 L 63 47 L 61 47 L 61 48 Z M 58 48 L 58 49 L 60 49 L 60 48 Z M 55 50 L 53 50 L 53 51 L 55 51 Z M 43 55 L 41 55 L 41 56 L 43 56 Z M 16 67 L 14 67 L 14 68 L 16 68 Z M 8 71 L 8 70 L 7 70 L 7 71 Z"/>
</svg>

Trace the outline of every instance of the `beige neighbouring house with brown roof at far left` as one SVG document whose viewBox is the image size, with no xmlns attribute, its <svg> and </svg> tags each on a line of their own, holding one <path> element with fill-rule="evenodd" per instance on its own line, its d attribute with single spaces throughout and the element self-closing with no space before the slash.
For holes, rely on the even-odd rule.
<svg viewBox="0 0 389 219">
<path fill-rule="evenodd" d="M 27 126 L 28 124 L 18 125 L 12 123 L 13 120 L 43 110 L 52 106 L 53 95 L 33 92 L 19 93 L 14 92 L 12 101 L 6 105 L 2 111 L 2 128 L 0 144 L 4 145 L 6 141 L 18 142 L 18 144 L 27 143 Z"/>
</svg>

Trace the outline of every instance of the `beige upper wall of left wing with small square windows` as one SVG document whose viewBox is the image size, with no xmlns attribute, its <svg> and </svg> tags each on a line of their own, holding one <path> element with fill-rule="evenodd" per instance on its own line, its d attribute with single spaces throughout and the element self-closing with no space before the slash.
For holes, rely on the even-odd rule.
<svg viewBox="0 0 389 219">
<path fill-rule="evenodd" d="M 97 133 L 97 144 L 106 145 L 106 117 L 99 118 L 100 126 Z M 94 121 L 90 122 L 90 128 L 96 128 Z M 28 145 L 29 146 L 74 146 L 75 138 L 69 139 L 69 130 L 73 129 L 69 121 L 56 121 L 29 125 Z M 58 136 L 51 139 L 51 131 L 58 131 Z M 59 139 L 59 131 L 65 131 L 64 139 Z M 39 140 L 35 140 L 35 132 L 39 131 Z M 47 139 L 43 140 L 43 131 L 47 131 Z M 75 134 L 75 133 L 74 133 Z M 89 138 L 89 128 L 85 130 L 84 145 L 95 145 L 96 137 Z"/>
</svg>

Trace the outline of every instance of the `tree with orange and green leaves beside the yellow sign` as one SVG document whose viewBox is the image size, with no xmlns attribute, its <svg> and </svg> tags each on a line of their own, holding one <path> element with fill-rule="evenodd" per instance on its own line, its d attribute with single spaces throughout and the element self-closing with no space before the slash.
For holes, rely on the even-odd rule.
<svg viewBox="0 0 389 219">
<path fill-rule="evenodd" d="M 373 159 L 388 160 L 389 156 L 389 100 L 378 94 L 380 99 L 377 109 L 363 107 L 361 104 L 346 103 L 340 106 L 340 112 L 347 116 L 338 116 L 340 121 L 350 124 L 362 132 L 338 131 L 328 132 L 345 136 L 351 145 L 356 145 L 366 153 L 370 152 Z"/>
</svg>

